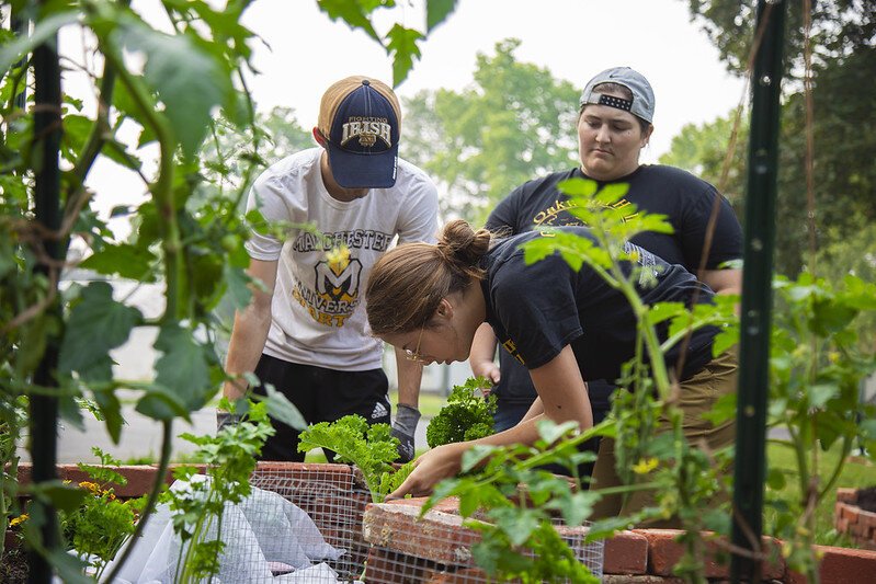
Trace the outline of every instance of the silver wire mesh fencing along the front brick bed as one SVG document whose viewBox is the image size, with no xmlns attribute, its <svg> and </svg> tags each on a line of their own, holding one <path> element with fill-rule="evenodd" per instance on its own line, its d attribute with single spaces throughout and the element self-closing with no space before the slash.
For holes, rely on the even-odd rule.
<svg viewBox="0 0 876 584">
<path fill-rule="evenodd" d="M 494 582 L 475 563 L 471 549 L 480 534 L 463 525 L 453 500 L 440 503 L 423 517 L 422 500 L 371 504 L 361 476 L 344 465 L 261 463 L 251 482 L 300 509 L 318 530 L 302 530 L 306 520 L 292 525 L 285 535 L 269 530 L 271 535 L 263 536 L 268 545 L 258 543 L 271 579 L 258 582 Z M 261 513 L 247 513 L 247 522 L 253 531 L 263 533 L 260 524 L 276 525 L 278 514 L 277 507 L 269 505 Z M 587 527 L 556 528 L 576 558 L 601 577 L 603 542 L 585 542 Z M 283 561 L 288 556 L 275 553 L 287 553 L 292 539 L 308 551 L 316 550 L 310 564 L 295 565 Z"/>
</svg>

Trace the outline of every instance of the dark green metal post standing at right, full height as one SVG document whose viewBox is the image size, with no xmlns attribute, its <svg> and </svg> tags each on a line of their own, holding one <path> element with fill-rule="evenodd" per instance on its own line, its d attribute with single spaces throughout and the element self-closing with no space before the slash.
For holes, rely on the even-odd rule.
<svg viewBox="0 0 876 584">
<path fill-rule="evenodd" d="M 785 1 L 760 0 L 744 214 L 732 528 L 733 545 L 753 552 L 761 550 L 766 474 L 766 399 L 784 26 Z M 730 579 L 732 582 L 760 582 L 761 562 L 733 554 Z"/>
</svg>

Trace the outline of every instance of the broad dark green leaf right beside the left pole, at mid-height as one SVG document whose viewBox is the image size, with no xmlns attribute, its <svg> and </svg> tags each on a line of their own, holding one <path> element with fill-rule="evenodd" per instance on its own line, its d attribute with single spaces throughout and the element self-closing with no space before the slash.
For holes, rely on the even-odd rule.
<svg viewBox="0 0 876 584">
<path fill-rule="evenodd" d="M 70 311 L 58 369 L 79 371 L 92 380 L 111 379 L 113 360 L 109 353 L 127 341 L 141 318 L 136 308 L 113 299 L 113 288 L 107 283 L 92 282 Z"/>
</svg>

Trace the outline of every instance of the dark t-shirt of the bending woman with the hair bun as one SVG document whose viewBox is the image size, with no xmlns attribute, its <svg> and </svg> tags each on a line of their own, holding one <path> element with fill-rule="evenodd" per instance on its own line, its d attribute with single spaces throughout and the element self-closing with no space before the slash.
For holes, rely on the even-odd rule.
<svg viewBox="0 0 876 584">
<path fill-rule="evenodd" d="M 564 227 L 594 241 L 584 227 Z M 485 256 L 487 275 L 481 283 L 487 301 L 487 322 L 499 343 L 527 369 L 545 365 L 566 345 L 574 351 L 584 380 L 616 379 L 621 368 L 635 355 L 636 317 L 624 295 L 584 264 L 576 271 L 558 254 L 526 265 L 520 245 L 544 237 L 521 233 L 502 240 Z M 681 265 L 672 265 L 636 247 L 638 264 L 651 278 L 638 286 L 644 302 L 684 302 L 694 296 L 709 302 L 714 294 Z M 625 270 L 633 270 L 626 264 Z M 629 273 L 629 272 L 627 272 Z M 648 282 L 650 279 L 650 282 Z M 696 291 L 698 290 L 698 291 Z M 696 291 L 696 293 L 695 293 Z M 657 328 L 661 341 L 665 324 Z M 694 331 L 684 359 L 682 378 L 687 378 L 712 359 L 713 327 Z M 674 367 L 680 356 L 676 344 L 664 358 Z"/>
</svg>

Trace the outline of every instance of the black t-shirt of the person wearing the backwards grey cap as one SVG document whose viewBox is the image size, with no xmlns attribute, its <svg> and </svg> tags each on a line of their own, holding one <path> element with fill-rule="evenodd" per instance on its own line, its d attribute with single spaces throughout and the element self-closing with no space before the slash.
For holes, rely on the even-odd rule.
<svg viewBox="0 0 876 584">
<path fill-rule="evenodd" d="M 493 231 L 511 233 L 531 231 L 536 227 L 579 225 L 580 219 L 568 213 L 568 197 L 557 184 L 571 178 L 588 179 L 580 169 L 557 172 L 524 183 L 505 197 L 487 219 Z M 724 262 L 742 257 L 742 229 L 729 203 L 718 191 L 693 174 L 664 165 L 640 165 L 632 174 L 612 181 L 627 183 L 629 190 L 618 206 L 634 203 L 639 209 L 662 214 L 674 233 L 639 233 L 633 242 L 662 257 L 670 264 L 681 264 L 694 273 L 699 267 L 703 243 L 715 197 L 719 197 L 719 214 L 715 226 L 707 270 Z M 604 185 L 606 183 L 600 183 Z M 503 351 L 499 355 L 501 380 L 494 388 L 500 400 L 530 403 L 535 398 L 528 371 Z M 610 378 L 611 379 L 611 378 Z M 611 386 L 591 383 L 591 399 L 606 406 Z"/>
</svg>

